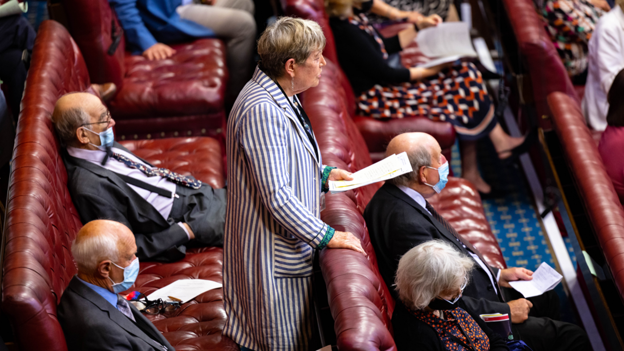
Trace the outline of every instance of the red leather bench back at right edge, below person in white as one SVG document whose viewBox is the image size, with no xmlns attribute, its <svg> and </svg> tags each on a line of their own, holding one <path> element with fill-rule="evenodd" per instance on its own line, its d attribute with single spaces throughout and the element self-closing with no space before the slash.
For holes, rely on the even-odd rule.
<svg viewBox="0 0 624 351">
<path fill-rule="evenodd" d="M 613 280 L 624 300 L 624 209 L 607 174 L 592 132 L 580 106 L 570 96 L 553 92 L 548 96 L 555 131 L 573 171 L 600 247 Z"/>
</svg>

